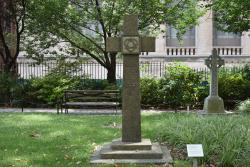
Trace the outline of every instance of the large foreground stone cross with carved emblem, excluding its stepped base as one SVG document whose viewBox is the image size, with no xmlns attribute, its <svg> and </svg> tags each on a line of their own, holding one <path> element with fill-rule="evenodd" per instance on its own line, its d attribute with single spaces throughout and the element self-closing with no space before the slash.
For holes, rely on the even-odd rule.
<svg viewBox="0 0 250 167">
<path fill-rule="evenodd" d="M 124 17 L 122 37 L 107 39 L 108 52 L 123 54 L 122 142 L 141 142 L 139 54 L 155 51 L 155 38 L 141 37 L 138 16 Z"/>
</svg>

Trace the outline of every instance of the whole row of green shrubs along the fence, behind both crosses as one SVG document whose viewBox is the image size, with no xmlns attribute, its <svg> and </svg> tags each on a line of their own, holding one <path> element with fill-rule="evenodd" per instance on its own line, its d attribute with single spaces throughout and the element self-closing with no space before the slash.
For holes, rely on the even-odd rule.
<svg viewBox="0 0 250 167">
<path fill-rule="evenodd" d="M 54 104 L 66 89 L 121 90 L 121 82 L 110 84 L 106 80 L 89 79 L 84 74 L 77 77 L 75 72 L 80 69 L 75 62 L 60 60 L 58 66 L 43 78 L 24 80 L 2 74 L 0 100 L 8 105 L 15 100 L 24 100 L 35 105 Z M 175 110 L 186 106 L 199 108 L 209 95 L 209 82 L 204 80 L 203 72 L 197 72 L 180 63 L 168 66 L 163 78 L 141 78 L 140 87 L 143 107 L 168 107 Z M 230 109 L 239 101 L 250 98 L 249 66 L 221 69 L 219 96 Z"/>
</svg>

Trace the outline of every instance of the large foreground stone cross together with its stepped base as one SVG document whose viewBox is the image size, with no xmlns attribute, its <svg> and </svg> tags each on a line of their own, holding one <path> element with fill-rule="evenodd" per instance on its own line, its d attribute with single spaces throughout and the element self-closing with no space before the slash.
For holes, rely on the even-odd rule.
<svg viewBox="0 0 250 167">
<path fill-rule="evenodd" d="M 91 163 L 171 162 L 166 147 L 141 138 L 139 54 L 154 52 L 155 38 L 139 36 L 137 16 L 125 16 L 122 37 L 108 38 L 107 51 L 123 54 L 122 138 L 98 149 Z"/>
</svg>

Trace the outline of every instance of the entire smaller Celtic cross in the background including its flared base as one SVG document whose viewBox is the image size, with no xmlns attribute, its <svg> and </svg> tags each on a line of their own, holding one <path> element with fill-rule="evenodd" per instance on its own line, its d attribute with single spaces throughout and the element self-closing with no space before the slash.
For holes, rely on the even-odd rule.
<svg viewBox="0 0 250 167">
<path fill-rule="evenodd" d="M 225 113 L 223 99 L 218 95 L 218 69 L 225 64 L 218 55 L 217 50 L 212 51 L 212 55 L 205 60 L 205 64 L 210 69 L 211 82 L 210 94 L 204 101 L 203 110 L 206 113 Z"/>
</svg>

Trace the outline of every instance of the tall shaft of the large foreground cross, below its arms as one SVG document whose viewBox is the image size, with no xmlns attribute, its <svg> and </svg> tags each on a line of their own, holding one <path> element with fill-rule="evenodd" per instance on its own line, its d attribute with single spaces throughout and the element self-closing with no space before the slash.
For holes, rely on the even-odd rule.
<svg viewBox="0 0 250 167">
<path fill-rule="evenodd" d="M 139 57 L 123 57 L 122 141 L 141 141 Z M 131 67 L 131 68 L 130 68 Z"/>
</svg>

